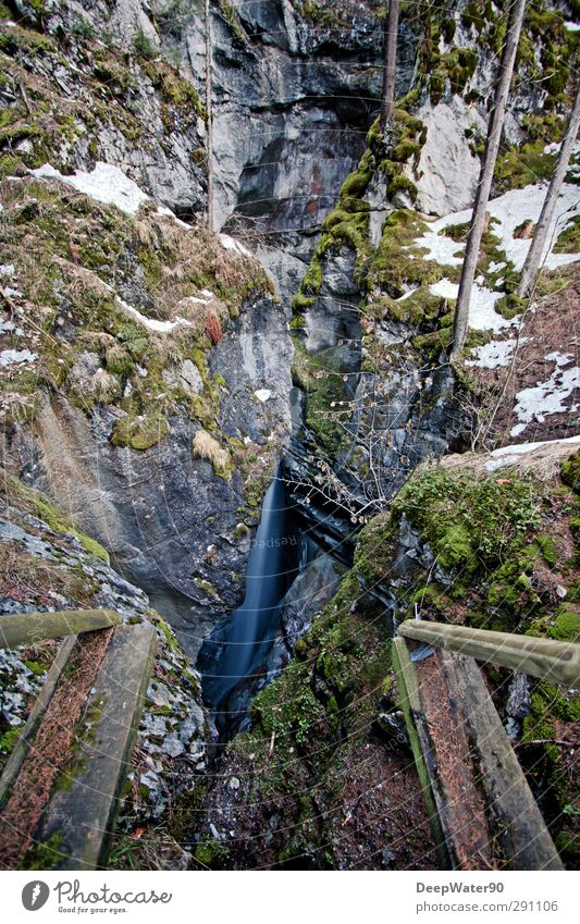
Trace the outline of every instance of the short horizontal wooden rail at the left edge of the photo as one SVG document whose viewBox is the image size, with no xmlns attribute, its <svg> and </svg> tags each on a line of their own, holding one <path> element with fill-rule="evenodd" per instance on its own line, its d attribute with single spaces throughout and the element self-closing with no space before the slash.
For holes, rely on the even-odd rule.
<svg viewBox="0 0 580 924">
<path fill-rule="evenodd" d="M 47 639 L 92 632 L 119 626 L 114 609 L 63 609 L 55 613 L 15 613 L 0 616 L 0 648 L 38 644 Z"/>
</svg>

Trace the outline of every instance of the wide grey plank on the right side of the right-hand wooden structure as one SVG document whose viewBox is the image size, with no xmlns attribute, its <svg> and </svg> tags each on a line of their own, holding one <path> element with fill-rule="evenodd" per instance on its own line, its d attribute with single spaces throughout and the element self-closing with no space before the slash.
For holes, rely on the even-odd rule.
<svg viewBox="0 0 580 924">
<path fill-rule="evenodd" d="M 513 870 L 563 870 L 481 670 L 472 657 L 453 658 L 466 723 L 477 747 L 490 811 Z"/>
</svg>

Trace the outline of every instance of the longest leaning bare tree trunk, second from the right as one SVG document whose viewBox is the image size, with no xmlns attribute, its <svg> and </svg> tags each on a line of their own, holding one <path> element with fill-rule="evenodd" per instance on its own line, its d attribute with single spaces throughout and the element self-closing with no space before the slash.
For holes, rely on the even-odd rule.
<svg viewBox="0 0 580 924">
<path fill-rule="evenodd" d="M 514 72 L 514 62 L 518 50 L 518 41 L 523 21 L 523 12 L 526 9 L 526 0 L 511 0 L 509 10 L 509 21 L 507 24 L 506 42 L 504 53 L 502 56 L 502 66 L 499 71 L 499 83 L 495 93 L 495 107 L 492 113 L 490 125 L 488 128 L 488 138 L 485 140 L 485 152 L 483 155 L 483 163 L 481 168 L 478 192 L 476 195 L 476 204 L 471 215 L 471 226 L 466 245 L 466 256 L 461 269 L 461 281 L 459 283 L 459 295 L 457 297 L 457 308 L 455 310 L 455 323 L 453 331 L 453 349 L 452 360 L 456 359 L 464 348 L 467 331 L 469 328 L 469 303 L 471 300 L 471 289 L 473 287 L 473 279 L 476 278 L 476 268 L 479 257 L 479 248 L 485 225 L 485 211 L 490 200 L 490 190 L 492 187 L 493 172 L 495 161 L 497 160 L 497 151 L 499 150 L 499 141 L 502 139 L 502 128 L 504 126 L 504 118 L 506 111 L 507 97 L 509 94 L 509 84 Z"/>
</svg>

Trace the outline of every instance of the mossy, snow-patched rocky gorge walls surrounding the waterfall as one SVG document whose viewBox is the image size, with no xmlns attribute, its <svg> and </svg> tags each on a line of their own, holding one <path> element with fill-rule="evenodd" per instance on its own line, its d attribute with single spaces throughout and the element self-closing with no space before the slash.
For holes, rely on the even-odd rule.
<svg viewBox="0 0 580 924">
<path fill-rule="evenodd" d="M 383 137 L 381 7 L 212 2 L 210 126 L 201 2 L 0 3 L 0 608 L 157 627 L 112 867 L 436 868 L 394 627 L 578 639 L 573 160 L 514 294 L 578 10 L 530 5 L 452 366 L 505 11 L 409 4 Z M 276 475 L 287 522 L 260 534 Z M 205 678 L 269 539 L 275 620 L 220 706 Z M 2 653 L 4 756 L 53 655 Z M 573 753 L 545 742 L 578 700 L 488 674 L 573 865 Z"/>
</svg>

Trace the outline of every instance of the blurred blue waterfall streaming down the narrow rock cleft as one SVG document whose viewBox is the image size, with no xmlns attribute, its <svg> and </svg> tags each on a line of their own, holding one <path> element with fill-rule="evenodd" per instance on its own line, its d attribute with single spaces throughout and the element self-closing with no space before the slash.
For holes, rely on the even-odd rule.
<svg viewBox="0 0 580 924">
<path fill-rule="evenodd" d="M 248 687 L 256 688 L 264 677 L 280 626 L 281 600 L 295 569 L 292 549 L 284 484 L 276 476 L 263 498 L 244 603 L 206 640 L 198 662 L 203 697 L 222 735 L 239 728 L 247 712 Z"/>
</svg>

